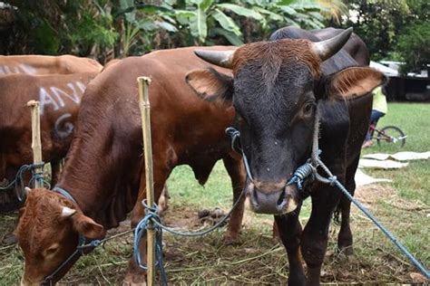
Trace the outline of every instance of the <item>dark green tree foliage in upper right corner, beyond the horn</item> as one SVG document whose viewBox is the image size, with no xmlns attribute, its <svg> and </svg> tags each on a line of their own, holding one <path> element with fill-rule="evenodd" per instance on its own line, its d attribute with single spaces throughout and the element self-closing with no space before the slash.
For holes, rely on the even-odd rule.
<svg viewBox="0 0 430 286">
<path fill-rule="evenodd" d="M 363 38 L 374 61 L 406 62 L 415 70 L 430 62 L 428 56 L 427 0 L 348 0 L 352 12 L 342 26 L 353 26 Z M 416 59 L 414 59 L 416 58 Z"/>
</svg>

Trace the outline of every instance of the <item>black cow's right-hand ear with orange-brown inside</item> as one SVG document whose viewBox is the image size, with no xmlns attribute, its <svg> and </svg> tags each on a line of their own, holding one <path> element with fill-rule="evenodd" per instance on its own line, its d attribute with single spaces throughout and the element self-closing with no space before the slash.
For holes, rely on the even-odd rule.
<svg viewBox="0 0 430 286">
<path fill-rule="evenodd" d="M 336 100 L 362 97 L 385 84 L 386 76 L 368 67 L 353 67 L 331 76 L 327 96 Z"/>
</svg>

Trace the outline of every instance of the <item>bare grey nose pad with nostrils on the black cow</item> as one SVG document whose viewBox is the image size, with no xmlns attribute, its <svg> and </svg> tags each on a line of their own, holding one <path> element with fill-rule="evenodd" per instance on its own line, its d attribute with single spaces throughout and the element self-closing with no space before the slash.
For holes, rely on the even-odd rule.
<svg viewBox="0 0 430 286">
<path fill-rule="evenodd" d="M 258 214 L 278 215 L 287 205 L 285 188 L 267 191 L 253 187 L 249 190 L 249 200 L 252 210 Z"/>
</svg>

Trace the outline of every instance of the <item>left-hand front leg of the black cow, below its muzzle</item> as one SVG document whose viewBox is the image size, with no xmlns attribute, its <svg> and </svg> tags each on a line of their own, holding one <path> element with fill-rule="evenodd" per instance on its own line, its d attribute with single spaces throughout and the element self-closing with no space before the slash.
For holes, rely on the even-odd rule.
<svg viewBox="0 0 430 286">
<path fill-rule="evenodd" d="M 301 204 L 288 215 L 275 215 L 275 223 L 278 225 L 279 238 L 285 246 L 288 254 L 288 285 L 304 285 L 306 281 L 303 264 L 300 258 L 301 224 L 298 221 Z"/>
</svg>

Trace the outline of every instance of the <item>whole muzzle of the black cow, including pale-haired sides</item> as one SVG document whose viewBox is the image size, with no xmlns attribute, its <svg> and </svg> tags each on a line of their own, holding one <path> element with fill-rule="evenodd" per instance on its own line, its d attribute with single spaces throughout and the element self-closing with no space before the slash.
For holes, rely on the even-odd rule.
<svg viewBox="0 0 430 286">
<path fill-rule="evenodd" d="M 257 186 L 256 186 L 257 185 Z M 259 184 L 249 183 L 249 202 L 253 212 L 257 214 L 285 215 L 298 206 L 298 190 L 296 186 L 283 186 L 278 189 L 258 187 Z"/>
</svg>

